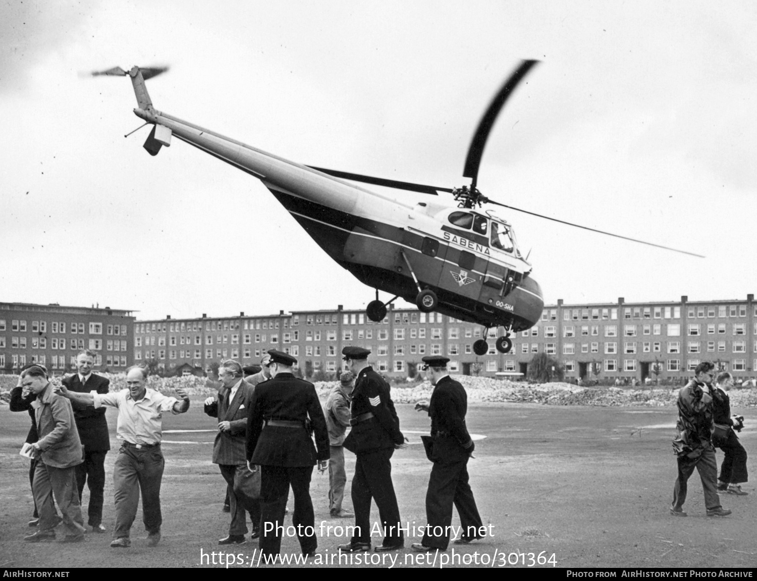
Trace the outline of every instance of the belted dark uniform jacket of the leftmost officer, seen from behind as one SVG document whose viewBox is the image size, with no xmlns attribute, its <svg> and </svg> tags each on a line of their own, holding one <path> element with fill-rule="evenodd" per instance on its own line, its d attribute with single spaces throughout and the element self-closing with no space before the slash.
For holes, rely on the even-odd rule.
<svg viewBox="0 0 757 581">
<path fill-rule="evenodd" d="M 299 426 L 263 426 L 269 420 Z M 307 420 L 315 447 L 306 429 Z M 282 467 L 313 466 L 316 460 L 329 459 L 329 433 L 312 383 L 279 373 L 255 386 L 247 422 L 247 459 L 251 464 Z"/>
</svg>

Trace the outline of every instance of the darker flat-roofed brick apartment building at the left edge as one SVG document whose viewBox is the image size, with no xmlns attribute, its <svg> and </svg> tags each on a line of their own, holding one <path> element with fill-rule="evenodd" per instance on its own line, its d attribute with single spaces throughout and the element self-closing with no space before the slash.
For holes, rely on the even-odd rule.
<svg viewBox="0 0 757 581">
<path fill-rule="evenodd" d="M 0 302 L 0 370 L 36 362 L 70 371 L 87 348 L 98 370 L 123 371 L 132 364 L 133 330 L 131 311 Z"/>
</svg>

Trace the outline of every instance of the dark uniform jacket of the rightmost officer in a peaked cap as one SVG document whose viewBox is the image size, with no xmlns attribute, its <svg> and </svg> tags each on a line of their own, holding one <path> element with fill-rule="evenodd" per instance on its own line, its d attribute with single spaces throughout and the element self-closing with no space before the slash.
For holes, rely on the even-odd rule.
<svg viewBox="0 0 757 581">
<path fill-rule="evenodd" d="M 428 402 L 434 448 L 431 461 L 460 461 L 468 458 L 471 436 L 466 427 L 468 395 L 450 376 L 438 380 Z"/>
</svg>

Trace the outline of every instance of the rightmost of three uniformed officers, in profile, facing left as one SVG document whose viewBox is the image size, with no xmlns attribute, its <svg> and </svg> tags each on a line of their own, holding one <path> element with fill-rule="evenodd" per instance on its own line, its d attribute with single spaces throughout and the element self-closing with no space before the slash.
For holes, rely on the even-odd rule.
<svg viewBox="0 0 757 581">
<path fill-rule="evenodd" d="M 431 355 L 422 358 L 423 369 L 434 387 L 431 401 L 416 403 L 416 411 L 431 416 L 432 445 L 429 454 L 434 466 L 426 492 L 426 533 L 422 542 L 413 543 L 414 551 L 444 551 L 450 542 L 452 505 L 457 508 L 461 531 L 456 545 L 482 539 L 485 529 L 468 484 L 468 458 L 475 444 L 466 429 L 468 397 L 459 382 L 447 373 L 446 357 Z"/>
</svg>

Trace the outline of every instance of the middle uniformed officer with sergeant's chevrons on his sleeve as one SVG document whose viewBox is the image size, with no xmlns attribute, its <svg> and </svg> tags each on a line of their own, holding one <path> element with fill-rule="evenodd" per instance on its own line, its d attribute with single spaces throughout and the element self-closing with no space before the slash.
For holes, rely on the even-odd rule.
<svg viewBox="0 0 757 581">
<path fill-rule="evenodd" d="M 384 527 L 384 542 L 376 551 L 394 551 L 404 546 L 400 509 L 391 483 L 391 454 L 405 441 L 400 420 L 394 411 L 389 386 L 368 364 L 368 349 L 345 347 L 341 351 L 356 376 L 352 392 L 352 430 L 344 448 L 357 455 L 352 479 L 352 506 L 355 534 L 342 551 L 369 551 L 371 548 L 371 499 L 375 500 Z"/>
</svg>

